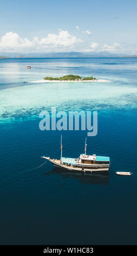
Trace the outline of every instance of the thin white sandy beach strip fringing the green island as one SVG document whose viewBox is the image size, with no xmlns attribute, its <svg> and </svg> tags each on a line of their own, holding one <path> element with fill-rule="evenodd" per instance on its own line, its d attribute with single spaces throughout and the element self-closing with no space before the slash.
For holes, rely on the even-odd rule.
<svg viewBox="0 0 137 256">
<path fill-rule="evenodd" d="M 35 80 L 35 81 L 30 81 L 31 83 L 74 83 L 74 82 L 101 82 L 101 83 L 104 83 L 104 82 L 110 82 L 109 80 L 105 80 L 105 79 L 98 79 L 98 80 L 75 80 L 75 81 L 58 81 L 58 80 Z"/>
</svg>

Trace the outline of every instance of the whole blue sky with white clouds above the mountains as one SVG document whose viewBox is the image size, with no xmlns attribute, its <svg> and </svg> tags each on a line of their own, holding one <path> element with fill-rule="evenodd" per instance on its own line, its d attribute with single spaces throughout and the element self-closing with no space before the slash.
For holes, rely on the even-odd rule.
<svg viewBox="0 0 137 256">
<path fill-rule="evenodd" d="M 136 0 L 0 0 L 0 52 L 137 54 Z"/>
</svg>

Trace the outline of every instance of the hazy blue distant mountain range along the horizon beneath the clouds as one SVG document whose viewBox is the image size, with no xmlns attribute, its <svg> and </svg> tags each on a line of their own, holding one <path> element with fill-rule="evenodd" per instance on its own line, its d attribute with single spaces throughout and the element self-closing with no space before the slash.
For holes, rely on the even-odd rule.
<svg viewBox="0 0 137 256">
<path fill-rule="evenodd" d="M 5 57 L 6 56 L 6 57 Z M 137 57 L 128 54 L 118 54 L 110 52 L 49 52 L 49 53 L 18 53 L 0 52 L 0 58 L 110 58 L 110 57 Z"/>
</svg>

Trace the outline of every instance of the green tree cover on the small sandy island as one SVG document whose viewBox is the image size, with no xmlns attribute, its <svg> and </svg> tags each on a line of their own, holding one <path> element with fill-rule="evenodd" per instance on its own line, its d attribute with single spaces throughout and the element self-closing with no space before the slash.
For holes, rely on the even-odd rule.
<svg viewBox="0 0 137 256">
<path fill-rule="evenodd" d="M 97 79 L 95 77 L 84 77 L 82 78 L 81 76 L 76 76 L 76 75 L 67 75 L 67 76 L 61 76 L 61 77 L 51 77 L 47 76 L 44 77 L 44 80 L 47 81 L 96 81 Z"/>
</svg>

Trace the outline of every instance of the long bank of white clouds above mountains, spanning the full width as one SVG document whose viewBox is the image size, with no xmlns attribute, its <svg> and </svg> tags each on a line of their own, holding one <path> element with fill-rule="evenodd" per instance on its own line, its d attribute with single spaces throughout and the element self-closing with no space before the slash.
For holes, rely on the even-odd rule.
<svg viewBox="0 0 137 256">
<path fill-rule="evenodd" d="M 137 54 L 137 44 L 103 44 L 97 42 L 83 42 L 81 39 L 59 29 L 57 34 L 49 33 L 47 36 L 39 39 L 37 36 L 32 38 L 21 38 L 17 33 L 8 32 L 0 38 L 0 52 L 102 52 L 110 53 L 129 53 Z"/>
</svg>

